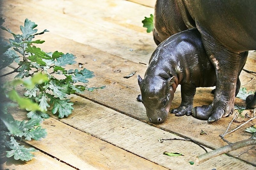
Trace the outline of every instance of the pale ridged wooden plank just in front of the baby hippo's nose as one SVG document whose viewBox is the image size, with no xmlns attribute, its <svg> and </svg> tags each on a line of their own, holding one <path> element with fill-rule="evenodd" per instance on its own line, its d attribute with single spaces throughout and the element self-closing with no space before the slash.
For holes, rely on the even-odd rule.
<svg viewBox="0 0 256 170">
<path fill-rule="evenodd" d="M 71 97 L 71 100 L 77 101 L 74 104 L 74 112 L 72 116 L 60 119 L 61 122 L 88 132 L 158 165 L 169 169 L 255 169 L 254 166 L 226 155 L 221 155 L 200 165 L 195 164 L 192 167 L 188 162 L 195 161 L 198 154 L 204 153 L 204 150 L 196 144 L 186 141 L 159 143 L 158 137 L 174 138 L 178 136 L 90 100 L 75 95 Z M 169 157 L 163 155 L 164 151 L 181 152 L 185 156 Z"/>
</svg>

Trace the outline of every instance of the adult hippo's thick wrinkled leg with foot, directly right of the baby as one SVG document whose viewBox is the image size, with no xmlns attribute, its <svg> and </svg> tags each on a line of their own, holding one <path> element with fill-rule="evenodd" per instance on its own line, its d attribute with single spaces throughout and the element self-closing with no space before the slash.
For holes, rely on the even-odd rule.
<svg viewBox="0 0 256 170">
<path fill-rule="evenodd" d="M 194 107 L 192 115 L 197 119 L 215 122 L 233 113 L 241 54 L 226 49 L 199 25 L 197 28 L 202 35 L 207 56 L 216 70 L 216 89 L 212 104 Z"/>
</svg>

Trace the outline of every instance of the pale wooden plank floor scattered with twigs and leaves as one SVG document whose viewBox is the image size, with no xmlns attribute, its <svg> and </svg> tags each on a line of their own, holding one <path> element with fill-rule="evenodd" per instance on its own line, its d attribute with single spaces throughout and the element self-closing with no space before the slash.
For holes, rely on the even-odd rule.
<svg viewBox="0 0 256 170">
<path fill-rule="evenodd" d="M 146 110 L 136 100 L 140 89 L 137 75 L 144 77 L 148 60 L 156 45 L 152 33 L 146 33 L 141 20 L 154 12 L 155 0 L 5 0 L 2 6 L 4 26 L 20 33 L 19 26 L 25 18 L 38 25 L 38 30 L 50 30 L 38 36 L 46 42 L 44 51 L 73 53 L 78 63 L 91 71 L 95 78 L 88 86 L 106 85 L 103 90 L 71 95 L 74 111 L 67 118 L 55 115 L 43 122 L 48 136 L 41 141 L 25 141 L 38 152 L 29 162 L 4 159 L 8 169 L 256 169 L 256 150 L 247 148 L 221 155 L 204 163 L 190 165 L 204 150 L 187 141 L 158 142 L 158 138 L 191 138 L 204 145 L 208 151 L 226 145 L 223 134 L 232 116 L 208 124 L 192 116 L 177 117 L 169 114 L 159 125 L 148 122 Z M 250 52 L 245 68 L 256 71 L 255 52 Z M 93 61 L 96 59 L 96 61 Z M 11 68 L 5 71 L 12 70 Z M 123 78 L 136 71 L 131 78 Z M 249 82 L 254 74 L 242 71 L 241 84 Z M 11 75 L 8 78 L 12 78 Z M 255 91 L 253 79 L 242 87 Z M 194 106 L 210 104 L 213 88 L 198 88 Z M 180 104 L 177 89 L 172 108 Z M 236 98 L 236 104 L 244 101 Z M 246 113 L 252 116 L 250 110 Z M 245 114 L 245 112 L 243 114 Z M 25 112 L 15 111 L 15 118 L 26 117 Z M 235 128 L 246 118 L 236 118 Z M 227 139 L 236 142 L 252 134 L 244 131 L 256 121 L 249 122 Z M 207 135 L 200 135 L 201 130 Z M 164 151 L 179 152 L 184 156 L 169 157 Z"/>
</svg>

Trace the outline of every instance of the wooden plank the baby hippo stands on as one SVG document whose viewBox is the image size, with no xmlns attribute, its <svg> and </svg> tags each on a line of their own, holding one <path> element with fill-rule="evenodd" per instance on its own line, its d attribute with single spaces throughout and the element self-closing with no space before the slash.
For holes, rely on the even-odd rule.
<svg viewBox="0 0 256 170">
<path fill-rule="evenodd" d="M 78 62 L 85 63 L 83 61 L 84 60 L 83 55 L 85 55 L 86 62 L 88 61 L 88 64 L 85 64 L 85 67 L 87 69 L 95 70 L 95 73 L 96 73 L 96 78 L 93 78 L 92 80 L 90 80 L 92 82 L 91 86 L 107 85 L 107 88 L 105 90 L 100 90 L 93 93 L 86 92 L 84 94 L 85 97 L 90 98 L 91 100 L 95 100 L 101 104 L 111 106 L 113 109 L 116 109 L 119 112 L 124 113 L 126 115 L 135 117 L 141 121 L 148 120 L 145 114 L 145 108 L 141 103 L 137 102 L 135 99 L 136 96 L 140 93 L 137 86 L 136 77 L 134 76 L 129 79 L 124 79 L 122 77 L 124 75 L 127 75 L 130 72 L 133 72 L 134 70 L 137 70 L 138 71 L 137 73 L 143 75 L 146 70 L 145 66 L 132 63 L 130 61 L 115 57 L 113 55 L 109 55 L 108 53 L 104 53 L 95 48 L 91 48 L 90 46 L 85 46 L 80 43 L 76 43 L 74 41 L 68 41 L 58 36 L 51 35 L 51 37 L 52 37 L 52 40 L 54 40 L 54 42 L 63 42 L 63 44 L 65 44 L 65 46 L 63 45 L 63 47 L 59 46 L 57 48 L 59 51 L 66 50 L 67 52 L 72 52 L 76 56 L 79 56 L 79 58 L 77 58 Z M 47 39 L 44 39 L 44 40 L 47 40 Z M 46 42 L 49 42 L 49 41 L 46 41 Z M 56 44 L 54 45 L 54 44 L 55 43 L 51 43 L 50 45 L 48 45 L 48 48 L 51 48 L 51 46 L 53 46 L 53 50 L 56 49 L 54 47 L 57 47 L 57 45 Z M 45 47 L 47 47 L 47 45 Z M 95 58 L 95 56 L 101 56 L 100 58 L 97 58 L 97 62 L 92 61 L 92 59 Z M 112 61 L 115 61 L 115 62 L 112 62 Z M 69 68 L 71 69 L 71 67 Z M 74 69 L 74 66 L 72 66 L 72 69 Z M 122 70 L 122 72 L 121 73 L 114 72 L 116 70 Z M 99 74 L 103 76 L 100 76 Z M 246 79 L 246 77 L 244 78 Z M 121 84 L 119 82 L 121 82 Z M 195 106 L 211 103 L 212 94 L 210 94 L 210 91 L 211 89 L 209 89 L 207 92 L 205 88 L 199 88 L 197 90 L 196 97 L 195 97 L 195 103 L 194 103 Z M 204 98 L 202 98 L 202 95 L 204 95 Z M 127 98 L 127 96 L 130 96 L 130 97 Z M 236 99 L 236 102 L 241 102 L 241 100 Z M 179 103 L 180 103 L 180 89 L 178 89 L 177 92 L 175 93 L 175 98 L 173 100 L 173 108 L 177 107 Z M 168 131 L 172 131 L 175 133 L 179 133 L 180 135 L 183 135 L 189 138 L 193 138 L 196 141 L 201 142 L 210 148 L 217 148 L 226 144 L 222 140 L 220 140 L 218 136 L 219 134 L 224 133 L 228 125 L 228 122 L 230 122 L 231 119 L 232 118 L 224 118 L 217 123 L 208 124 L 205 121 L 199 121 L 194 119 L 193 117 L 187 117 L 187 116 L 176 117 L 174 115 L 169 115 L 169 118 L 167 119 L 167 121 L 161 125 L 157 125 L 157 127 L 164 128 Z M 193 131 L 191 131 L 191 123 L 193 124 Z M 248 124 L 246 127 L 249 127 L 250 125 L 252 124 Z M 173 126 L 177 128 L 173 129 L 172 128 Z M 182 128 L 178 128 L 180 126 L 182 126 Z M 232 127 L 236 127 L 236 124 L 232 125 Z M 208 136 L 199 135 L 201 129 L 206 131 L 209 135 Z M 234 133 L 232 136 L 229 136 L 229 139 L 231 141 L 237 141 L 237 140 L 245 139 L 248 137 L 249 137 L 249 134 L 247 134 L 247 132 L 244 132 L 244 128 L 242 128 L 238 130 L 236 133 Z M 244 150 L 240 149 L 238 151 L 235 151 L 232 153 L 232 155 L 236 156 L 239 153 L 243 152 Z M 255 151 L 250 150 L 249 152 L 240 156 L 240 158 L 244 159 L 245 161 L 254 163 L 254 157 L 250 156 L 253 154 L 255 154 Z"/>
</svg>

